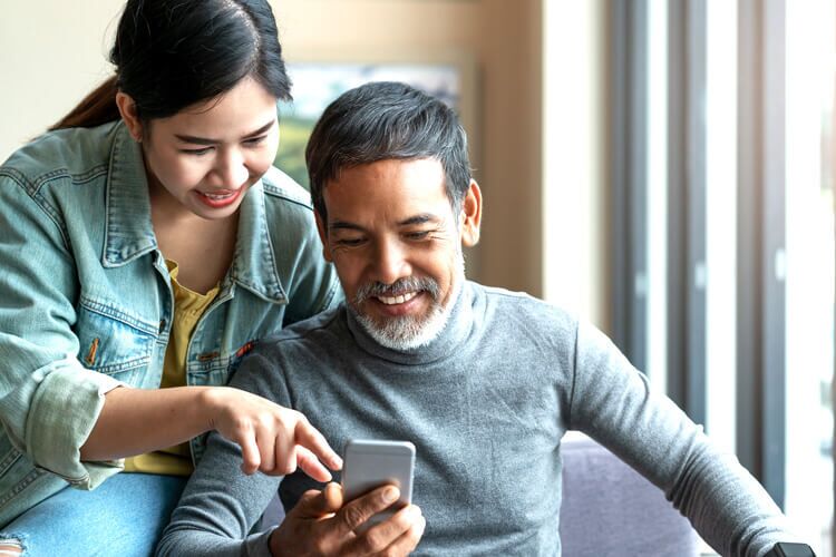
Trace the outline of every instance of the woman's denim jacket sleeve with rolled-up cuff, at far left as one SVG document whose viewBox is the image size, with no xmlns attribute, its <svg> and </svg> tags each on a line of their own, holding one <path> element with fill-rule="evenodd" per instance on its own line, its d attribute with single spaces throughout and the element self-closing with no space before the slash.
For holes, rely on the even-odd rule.
<svg viewBox="0 0 836 557">
<path fill-rule="evenodd" d="M 47 202 L 10 173 L 0 173 L 0 420 L 36 466 L 91 489 L 121 468 L 80 460 L 105 394 L 120 383 L 77 360 L 71 253 Z"/>
</svg>

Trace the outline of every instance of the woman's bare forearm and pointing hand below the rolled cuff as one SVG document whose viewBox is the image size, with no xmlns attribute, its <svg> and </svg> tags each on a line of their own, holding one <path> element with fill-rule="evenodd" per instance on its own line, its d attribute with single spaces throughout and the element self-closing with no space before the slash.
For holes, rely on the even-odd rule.
<svg viewBox="0 0 836 557">
<path fill-rule="evenodd" d="M 216 429 L 241 446 L 244 473 L 288 475 L 301 468 L 328 481 L 342 459 L 301 413 L 231 387 L 119 387 L 105 395 L 82 460 L 109 460 L 155 451 Z M 320 462 L 321 461 L 321 462 Z"/>
</svg>

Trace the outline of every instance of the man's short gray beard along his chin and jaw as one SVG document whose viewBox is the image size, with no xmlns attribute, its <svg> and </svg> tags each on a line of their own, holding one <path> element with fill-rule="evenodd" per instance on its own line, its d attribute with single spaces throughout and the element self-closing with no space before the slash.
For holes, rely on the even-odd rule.
<svg viewBox="0 0 836 557">
<path fill-rule="evenodd" d="M 381 326 L 368 315 L 358 312 L 350 304 L 349 307 L 351 307 L 357 322 L 381 346 L 398 351 L 409 351 L 426 346 L 441 334 L 444 328 L 447 326 L 453 306 L 456 305 L 461 284 L 465 282 L 465 260 L 460 253 L 459 261 L 460 274 L 450 293 L 447 305 L 445 306 L 438 300 L 432 299 L 426 316 L 419 319 L 412 315 L 391 317 Z"/>
</svg>

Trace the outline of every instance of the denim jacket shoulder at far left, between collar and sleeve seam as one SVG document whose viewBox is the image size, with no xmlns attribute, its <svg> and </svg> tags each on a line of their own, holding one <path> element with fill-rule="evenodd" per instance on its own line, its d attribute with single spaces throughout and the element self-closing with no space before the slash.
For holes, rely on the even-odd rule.
<svg viewBox="0 0 836 557">
<path fill-rule="evenodd" d="M 0 166 L 0 175 L 39 184 L 51 177 L 82 177 L 106 169 L 119 127 L 119 123 L 109 123 L 47 131 L 16 150 Z"/>
</svg>

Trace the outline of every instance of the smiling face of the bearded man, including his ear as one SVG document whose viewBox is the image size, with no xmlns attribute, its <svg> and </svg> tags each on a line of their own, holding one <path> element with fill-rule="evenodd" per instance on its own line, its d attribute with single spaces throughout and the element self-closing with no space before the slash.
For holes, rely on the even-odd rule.
<svg viewBox="0 0 836 557">
<path fill-rule="evenodd" d="M 461 245 L 478 238 L 476 183 L 456 215 L 438 160 L 386 159 L 343 168 L 323 197 L 324 255 L 359 322 L 398 350 L 435 339 L 465 281 Z"/>
</svg>

